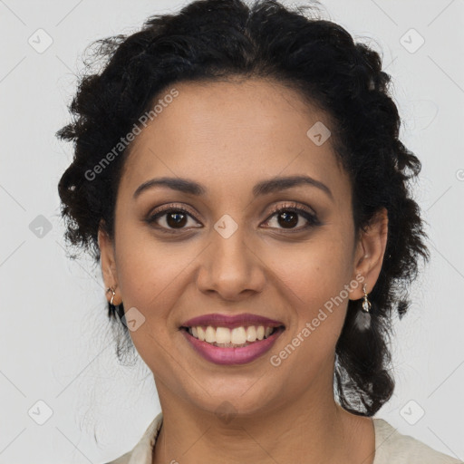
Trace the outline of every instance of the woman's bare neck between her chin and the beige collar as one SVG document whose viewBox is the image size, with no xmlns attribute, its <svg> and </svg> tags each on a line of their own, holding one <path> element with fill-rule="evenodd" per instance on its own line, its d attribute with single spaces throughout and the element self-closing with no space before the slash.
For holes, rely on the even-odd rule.
<svg viewBox="0 0 464 464">
<path fill-rule="evenodd" d="M 235 415 L 192 408 L 162 386 L 157 389 L 163 425 L 153 464 L 275 463 L 289 457 L 307 464 L 372 463 L 372 420 L 344 411 L 333 395 L 324 395 L 326 388 Z M 226 403 L 223 409 L 227 411 Z"/>
</svg>

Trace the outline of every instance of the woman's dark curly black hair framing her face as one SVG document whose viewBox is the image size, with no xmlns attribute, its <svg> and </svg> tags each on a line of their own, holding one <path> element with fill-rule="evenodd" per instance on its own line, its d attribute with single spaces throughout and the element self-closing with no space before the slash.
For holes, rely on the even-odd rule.
<svg viewBox="0 0 464 464">
<path fill-rule="evenodd" d="M 102 66 L 80 79 L 70 105 L 73 122 L 57 132 L 74 144 L 73 162 L 58 190 L 65 238 L 98 263 L 98 228 L 103 220 L 113 237 L 115 198 L 131 145 L 95 179 L 86 173 L 150 111 L 162 92 L 175 82 L 234 76 L 272 79 L 299 91 L 304 102 L 330 118 L 337 160 L 351 179 L 357 237 L 376 212 L 388 211 L 382 270 L 370 294 L 371 330 L 359 332 L 354 324 L 359 301 L 349 301 L 336 344 L 334 388 L 339 401 L 347 411 L 372 416 L 394 389 L 389 368 L 393 312 L 400 318 L 406 313 L 419 256 L 430 259 L 420 208 L 410 191 L 420 160 L 399 140 L 401 120 L 379 53 L 355 43 L 340 25 L 318 17 L 316 6 L 292 10 L 275 0 L 254 5 L 198 0 L 178 14 L 151 16 L 139 32 L 92 43 L 92 64 Z M 125 349 L 133 350 L 121 323 L 123 314 L 122 304 L 108 305 L 111 326 L 121 327 Z"/>
</svg>

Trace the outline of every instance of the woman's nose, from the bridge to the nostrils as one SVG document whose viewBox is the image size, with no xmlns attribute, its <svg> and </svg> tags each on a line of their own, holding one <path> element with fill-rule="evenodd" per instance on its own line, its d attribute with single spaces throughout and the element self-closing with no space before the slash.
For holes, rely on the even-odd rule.
<svg viewBox="0 0 464 464">
<path fill-rule="evenodd" d="M 240 227 L 231 237 L 222 237 L 216 231 L 212 236 L 200 260 L 198 290 L 215 293 L 227 301 L 261 293 L 266 283 L 266 266 L 256 249 L 247 243 Z"/>
</svg>

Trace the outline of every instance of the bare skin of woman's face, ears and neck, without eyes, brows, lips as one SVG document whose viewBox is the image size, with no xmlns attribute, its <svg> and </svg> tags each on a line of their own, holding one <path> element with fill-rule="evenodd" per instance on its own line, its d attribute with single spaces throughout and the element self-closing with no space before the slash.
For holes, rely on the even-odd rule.
<svg viewBox="0 0 464 464">
<path fill-rule="evenodd" d="M 181 82 L 176 89 L 179 96 L 133 142 L 114 241 L 99 232 L 114 304 L 123 301 L 126 311 L 134 306 L 145 317 L 131 338 L 153 372 L 163 411 L 153 463 L 372 463 L 372 420 L 333 398 L 335 344 L 348 298 L 362 298 L 362 285 L 278 367 L 269 357 L 356 275 L 372 290 L 386 246 L 386 211 L 355 241 L 351 185 L 331 140 L 316 146 L 306 136 L 316 121 L 330 128 L 329 120 L 293 90 L 264 80 Z M 323 182 L 333 198 L 309 185 L 253 198 L 261 180 L 302 174 Z M 158 187 L 132 198 L 141 183 L 165 176 L 195 180 L 208 194 Z M 313 210 L 320 225 L 304 229 L 307 221 L 298 216 L 299 232 L 285 228 L 272 208 L 293 202 Z M 170 227 L 175 233 L 163 234 L 144 222 L 154 208 L 173 204 L 191 211 L 181 226 L 187 231 Z M 214 228 L 225 214 L 238 227 L 228 238 Z M 169 229 L 167 218 L 158 218 L 160 227 Z M 285 332 L 271 353 L 220 366 L 179 332 L 189 318 L 210 313 L 263 315 L 282 321 Z M 224 401 L 236 413 L 232 420 L 216 412 Z"/>
</svg>

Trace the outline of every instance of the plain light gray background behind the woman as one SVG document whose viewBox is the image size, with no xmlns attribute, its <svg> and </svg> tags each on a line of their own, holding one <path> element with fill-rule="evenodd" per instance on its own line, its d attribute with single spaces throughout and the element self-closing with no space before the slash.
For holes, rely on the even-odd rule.
<svg viewBox="0 0 464 464">
<path fill-rule="evenodd" d="M 69 121 L 86 45 L 185 3 L 0 0 L 0 463 L 114 459 L 160 411 L 147 366 L 118 365 L 100 269 L 65 256 L 57 183 L 72 147 L 54 133 Z M 322 3 L 325 17 L 382 49 L 402 140 L 423 163 L 416 198 L 430 225 L 431 261 L 410 314 L 395 324 L 397 387 L 377 417 L 464 459 L 463 1 Z M 53 39 L 43 53 L 28 43 L 39 41 L 39 28 Z M 420 36 L 425 43 L 411 53 Z M 40 215 L 52 226 L 43 237 L 31 230 Z M 32 419 L 46 414 L 37 401 L 53 411 L 43 425 Z M 425 415 L 412 425 L 419 408 Z"/>
</svg>

